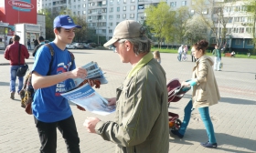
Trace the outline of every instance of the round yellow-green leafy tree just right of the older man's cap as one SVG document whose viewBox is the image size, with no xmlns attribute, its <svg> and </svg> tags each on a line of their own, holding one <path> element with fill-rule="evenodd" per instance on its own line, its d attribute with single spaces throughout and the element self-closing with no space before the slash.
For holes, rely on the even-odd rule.
<svg viewBox="0 0 256 153">
<path fill-rule="evenodd" d="M 160 2 L 156 6 L 150 5 L 144 11 L 146 14 L 145 24 L 150 27 L 150 32 L 157 38 L 158 48 L 161 48 L 167 31 L 170 30 L 173 23 L 170 9 L 165 2 Z"/>
</svg>

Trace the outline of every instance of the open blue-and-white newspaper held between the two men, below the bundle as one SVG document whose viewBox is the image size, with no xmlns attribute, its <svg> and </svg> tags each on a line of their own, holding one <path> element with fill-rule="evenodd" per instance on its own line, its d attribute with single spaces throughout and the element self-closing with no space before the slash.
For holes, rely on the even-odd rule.
<svg viewBox="0 0 256 153">
<path fill-rule="evenodd" d="M 101 97 L 88 83 L 60 95 L 95 114 L 106 116 L 115 111 L 115 106 L 109 107 L 108 101 Z"/>
</svg>

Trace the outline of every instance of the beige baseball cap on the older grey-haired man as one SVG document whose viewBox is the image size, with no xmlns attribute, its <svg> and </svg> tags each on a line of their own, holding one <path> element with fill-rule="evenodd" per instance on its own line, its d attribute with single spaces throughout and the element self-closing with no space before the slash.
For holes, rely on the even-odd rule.
<svg viewBox="0 0 256 153">
<path fill-rule="evenodd" d="M 136 38 L 143 35 L 144 29 L 141 24 L 134 20 L 124 20 L 115 27 L 112 39 L 105 43 L 104 46 L 111 46 L 119 39 Z"/>
</svg>

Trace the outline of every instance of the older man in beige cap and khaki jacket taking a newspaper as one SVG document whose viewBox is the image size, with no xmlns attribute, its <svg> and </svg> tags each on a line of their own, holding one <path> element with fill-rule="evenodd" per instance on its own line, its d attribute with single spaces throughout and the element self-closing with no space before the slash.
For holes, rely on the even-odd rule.
<svg viewBox="0 0 256 153">
<path fill-rule="evenodd" d="M 116 152 L 167 153 L 169 126 L 165 70 L 150 52 L 151 40 L 136 21 L 124 20 L 104 46 L 115 46 L 123 63 L 133 68 L 117 88 L 116 120 L 88 117 L 84 126 L 91 133 L 116 144 Z"/>
</svg>

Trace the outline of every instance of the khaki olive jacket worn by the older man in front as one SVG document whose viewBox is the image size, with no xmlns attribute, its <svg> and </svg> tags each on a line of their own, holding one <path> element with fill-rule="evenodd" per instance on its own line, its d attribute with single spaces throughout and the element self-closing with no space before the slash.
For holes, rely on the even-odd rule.
<svg viewBox="0 0 256 153">
<path fill-rule="evenodd" d="M 167 153 L 169 149 L 165 71 L 152 53 L 144 58 L 143 65 L 133 67 L 117 88 L 115 122 L 100 121 L 95 128 L 103 139 L 117 144 L 117 153 Z"/>
</svg>

